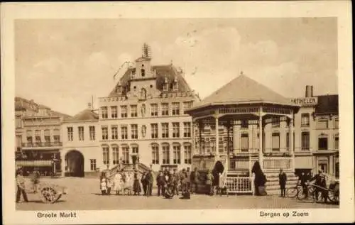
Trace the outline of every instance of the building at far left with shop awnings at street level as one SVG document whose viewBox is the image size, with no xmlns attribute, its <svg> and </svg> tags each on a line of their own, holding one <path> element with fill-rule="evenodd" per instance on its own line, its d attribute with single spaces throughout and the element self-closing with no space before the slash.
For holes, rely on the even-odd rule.
<svg viewBox="0 0 355 225">
<path fill-rule="evenodd" d="M 37 169 L 42 175 L 60 173 L 60 127 L 67 114 L 48 106 L 15 97 L 16 167 L 24 174 Z"/>
</svg>

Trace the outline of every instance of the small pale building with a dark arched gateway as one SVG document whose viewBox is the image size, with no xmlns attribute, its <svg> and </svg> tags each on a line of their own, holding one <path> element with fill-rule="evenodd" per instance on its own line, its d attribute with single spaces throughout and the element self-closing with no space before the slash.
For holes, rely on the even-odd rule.
<svg viewBox="0 0 355 225">
<path fill-rule="evenodd" d="M 99 114 L 92 104 L 62 122 L 62 175 L 84 177 L 97 175 L 104 168 L 99 148 Z"/>
</svg>

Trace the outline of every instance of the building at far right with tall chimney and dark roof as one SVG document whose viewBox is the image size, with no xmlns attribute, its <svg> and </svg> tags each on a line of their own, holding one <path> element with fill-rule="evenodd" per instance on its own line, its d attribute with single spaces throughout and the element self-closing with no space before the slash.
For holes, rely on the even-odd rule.
<svg viewBox="0 0 355 225">
<path fill-rule="evenodd" d="M 295 115 L 295 170 L 323 170 L 339 178 L 338 95 L 313 95 L 306 87 L 305 97 L 291 99 L 301 106 Z"/>
</svg>

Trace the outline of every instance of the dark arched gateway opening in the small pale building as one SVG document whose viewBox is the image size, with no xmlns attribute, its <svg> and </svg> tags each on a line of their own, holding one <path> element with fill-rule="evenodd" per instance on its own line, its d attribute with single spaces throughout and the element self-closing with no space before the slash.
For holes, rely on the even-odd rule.
<svg viewBox="0 0 355 225">
<path fill-rule="evenodd" d="M 65 175 L 70 177 L 84 177 L 84 156 L 78 150 L 70 150 L 65 154 Z"/>
</svg>

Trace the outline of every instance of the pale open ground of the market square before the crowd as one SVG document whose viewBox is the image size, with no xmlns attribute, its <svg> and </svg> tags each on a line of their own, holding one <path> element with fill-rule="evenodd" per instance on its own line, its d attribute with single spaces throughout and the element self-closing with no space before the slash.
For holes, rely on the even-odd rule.
<svg viewBox="0 0 355 225">
<path fill-rule="evenodd" d="M 54 204 L 40 201 L 38 194 L 28 194 L 30 202 L 16 204 L 17 210 L 109 210 L 109 209 L 310 209 L 339 208 L 339 205 L 301 202 L 297 199 L 271 196 L 192 194 L 191 199 L 165 199 L 156 196 L 102 195 L 97 178 L 43 178 L 41 182 L 67 187 L 68 194 Z"/>
</svg>

